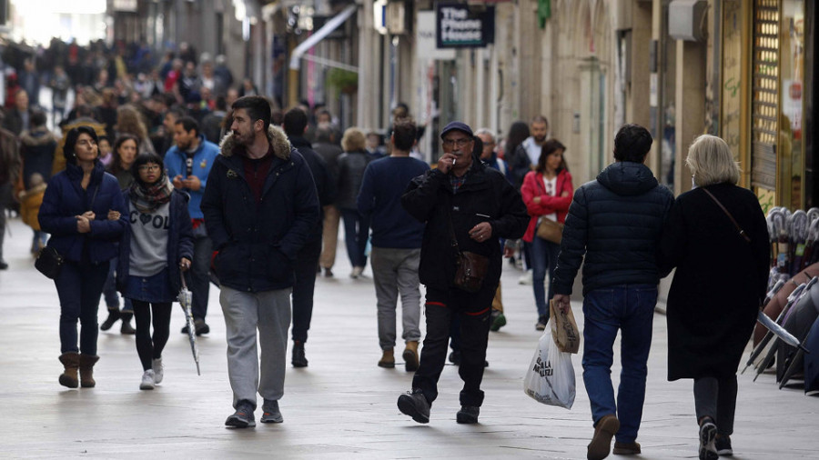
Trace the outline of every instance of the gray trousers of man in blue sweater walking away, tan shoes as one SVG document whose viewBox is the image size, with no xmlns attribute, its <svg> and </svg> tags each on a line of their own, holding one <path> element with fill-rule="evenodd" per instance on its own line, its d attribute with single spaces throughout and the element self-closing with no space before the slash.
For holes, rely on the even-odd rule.
<svg viewBox="0 0 819 460">
<path fill-rule="evenodd" d="M 379 345 L 395 347 L 395 308 L 401 295 L 401 323 L 404 342 L 420 340 L 420 289 L 418 265 L 420 249 L 373 247 L 370 254 L 372 279 L 376 288 L 379 317 Z"/>
</svg>

